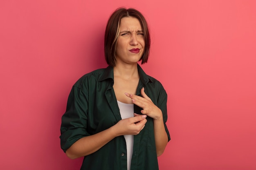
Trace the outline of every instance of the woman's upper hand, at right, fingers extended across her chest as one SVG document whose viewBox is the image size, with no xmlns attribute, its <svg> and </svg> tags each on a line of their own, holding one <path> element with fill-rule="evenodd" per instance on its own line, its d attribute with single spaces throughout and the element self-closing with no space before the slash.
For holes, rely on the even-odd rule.
<svg viewBox="0 0 256 170">
<path fill-rule="evenodd" d="M 145 114 L 149 117 L 152 117 L 153 119 L 161 119 L 162 118 L 162 111 L 159 109 L 155 104 L 152 102 L 152 100 L 146 95 L 144 92 L 144 88 L 141 88 L 141 96 L 138 95 L 132 95 L 129 93 L 125 93 L 127 97 L 130 97 L 132 99 L 132 103 L 136 104 L 137 106 L 143 108 L 141 110 L 142 114 Z"/>
</svg>

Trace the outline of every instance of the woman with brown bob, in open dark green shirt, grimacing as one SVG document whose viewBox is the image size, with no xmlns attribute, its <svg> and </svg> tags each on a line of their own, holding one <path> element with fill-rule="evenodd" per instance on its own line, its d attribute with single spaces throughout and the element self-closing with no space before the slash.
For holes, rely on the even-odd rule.
<svg viewBox="0 0 256 170">
<path fill-rule="evenodd" d="M 137 62 L 148 60 L 150 35 L 135 9 L 117 9 L 105 32 L 109 66 L 81 77 L 62 117 L 61 148 L 84 157 L 81 170 L 157 170 L 170 140 L 167 94 Z"/>
</svg>

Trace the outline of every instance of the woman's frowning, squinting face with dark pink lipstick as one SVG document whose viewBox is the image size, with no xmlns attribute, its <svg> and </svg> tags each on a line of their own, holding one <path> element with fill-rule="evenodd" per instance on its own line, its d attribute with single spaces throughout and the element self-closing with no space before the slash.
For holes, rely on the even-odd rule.
<svg viewBox="0 0 256 170">
<path fill-rule="evenodd" d="M 139 20 L 134 17 L 121 19 L 117 39 L 116 64 L 137 64 L 144 53 L 144 33 Z"/>
</svg>

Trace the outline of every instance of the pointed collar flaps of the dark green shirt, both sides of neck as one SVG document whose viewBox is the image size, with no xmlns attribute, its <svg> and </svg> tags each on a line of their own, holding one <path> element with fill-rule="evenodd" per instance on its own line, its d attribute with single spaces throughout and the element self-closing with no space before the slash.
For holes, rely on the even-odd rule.
<svg viewBox="0 0 256 170">
<path fill-rule="evenodd" d="M 149 81 L 152 82 L 152 78 L 146 75 L 146 73 L 142 70 L 141 66 L 139 66 L 139 64 L 137 64 L 137 66 L 138 66 L 139 77 L 142 84 L 147 84 Z M 112 81 L 114 80 L 114 71 L 112 66 L 108 66 L 105 69 L 104 73 L 99 77 L 98 81 L 101 82 L 105 79 L 112 79 Z"/>
</svg>

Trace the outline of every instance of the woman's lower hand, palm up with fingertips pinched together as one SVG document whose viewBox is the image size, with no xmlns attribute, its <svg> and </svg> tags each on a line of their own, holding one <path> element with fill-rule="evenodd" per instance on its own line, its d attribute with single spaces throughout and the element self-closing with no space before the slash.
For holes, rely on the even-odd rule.
<svg viewBox="0 0 256 170">
<path fill-rule="evenodd" d="M 145 127 L 147 122 L 146 115 L 135 115 L 127 119 L 122 119 L 117 124 L 112 126 L 115 129 L 117 136 L 121 135 L 138 135 Z"/>
</svg>

